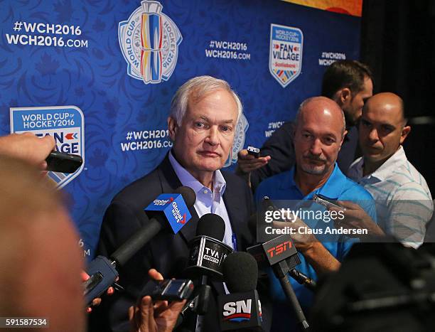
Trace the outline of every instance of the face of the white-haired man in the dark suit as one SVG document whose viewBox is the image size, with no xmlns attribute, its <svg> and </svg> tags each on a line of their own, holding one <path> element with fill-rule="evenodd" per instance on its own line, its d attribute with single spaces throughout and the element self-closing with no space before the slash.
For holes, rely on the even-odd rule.
<svg viewBox="0 0 435 332">
<path fill-rule="evenodd" d="M 225 165 L 237 125 L 237 104 L 226 90 L 210 92 L 200 100 L 189 98 L 181 124 L 169 119 L 173 151 L 195 178 Z"/>
</svg>

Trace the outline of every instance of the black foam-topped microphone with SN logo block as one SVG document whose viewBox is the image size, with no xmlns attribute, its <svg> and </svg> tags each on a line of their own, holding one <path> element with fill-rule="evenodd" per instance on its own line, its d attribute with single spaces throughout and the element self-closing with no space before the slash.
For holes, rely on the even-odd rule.
<svg viewBox="0 0 435 332">
<path fill-rule="evenodd" d="M 230 294 L 218 296 L 220 330 L 262 331 L 257 262 L 247 252 L 233 252 L 222 267 Z"/>
</svg>

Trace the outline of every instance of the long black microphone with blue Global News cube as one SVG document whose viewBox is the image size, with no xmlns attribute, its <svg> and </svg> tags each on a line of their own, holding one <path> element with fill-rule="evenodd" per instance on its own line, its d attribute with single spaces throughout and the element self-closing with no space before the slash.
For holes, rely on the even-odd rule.
<svg viewBox="0 0 435 332">
<path fill-rule="evenodd" d="M 116 267 L 124 265 L 149 240 L 156 236 L 167 225 L 176 234 L 190 220 L 188 208 L 195 204 L 195 192 L 188 187 L 177 188 L 175 194 L 163 193 L 159 195 L 144 210 L 149 211 L 151 219 L 145 213 L 141 216 L 144 226 L 124 242 L 110 257 L 97 256 L 87 266 L 90 279 L 83 283 L 87 304 L 104 293 L 118 277 Z"/>
</svg>

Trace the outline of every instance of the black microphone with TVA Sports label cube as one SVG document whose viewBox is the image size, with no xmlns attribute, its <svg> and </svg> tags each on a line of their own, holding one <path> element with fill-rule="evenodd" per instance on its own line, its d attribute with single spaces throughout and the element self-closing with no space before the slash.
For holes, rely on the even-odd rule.
<svg viewBox="0 0 435 332">
<path fill-rule="evenodd" d="M 232 252 L 232 247 L 222 242 L 224 235 L 225 222 L 219 215 L 207 213 L 198 220 L 196 236 L 189 243 L 190 256 L 186 274 L 222 280 L 222 262 Z"/>
</svg>

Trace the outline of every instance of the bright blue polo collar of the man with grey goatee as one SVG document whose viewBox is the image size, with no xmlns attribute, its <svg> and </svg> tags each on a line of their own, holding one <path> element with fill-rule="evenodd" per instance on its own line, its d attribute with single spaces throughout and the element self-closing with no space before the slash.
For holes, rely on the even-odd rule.
<svg viewBox="0 0 435 332">
<path fill-rule="evenodd" d="M 286 178 L 286 181 L 283 181 L 281 183 L 280 188 L 282 189 L 290 189 L 290 188 L 297 188 L 298 191 L 299 188 L 296 185 L 296 182 L 294 181 L 294 171 L 296 170 L 296 166 L 293 166 L 291 168 L 291 171 L 289 171 L 289 178 Z M 331 199 L 337 199 L 338 196 L 340 196 L 341 192 L 343 191 L 343 179 L 345 178 L 344 174 L 340 171 L 340 168 L 338 167 L 337 163 L 334 165 L 334 169 L 329 176 L 328 180 L 323 183 L 323 186 L 320 188 L 317 188 L 315 191 L 312 191 L 311 193 L 308 193 L 307 196 L 305 196 L 305 199 L 311 199 L 314 193 L 320 193 L 323 196 L 326 196 Z"/>
</svg>

